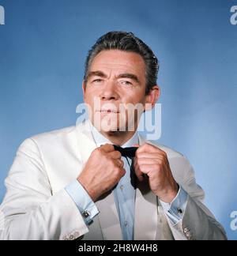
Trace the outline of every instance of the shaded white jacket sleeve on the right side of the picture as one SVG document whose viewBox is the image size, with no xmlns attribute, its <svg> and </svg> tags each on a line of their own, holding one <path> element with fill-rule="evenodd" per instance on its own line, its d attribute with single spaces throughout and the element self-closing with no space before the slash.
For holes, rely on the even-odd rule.
<svg viewBox="0 0 237 256">
<path fill-rule="evenodd" d="M 175 239 L 188 240 L 224 240 L 227 239 L 224 228 L 215 220 L 213 214 L 203 205 L 204 191 L 196 183 L 194 170 L 188 160 L 182 156 L 182 161 L 171 160 L 171 165 L 181 164 L 184 177 L 177 175 L 176 181 L 188 194 L 185 212 L 178 224 L 168 224 Z"/>
</svg>

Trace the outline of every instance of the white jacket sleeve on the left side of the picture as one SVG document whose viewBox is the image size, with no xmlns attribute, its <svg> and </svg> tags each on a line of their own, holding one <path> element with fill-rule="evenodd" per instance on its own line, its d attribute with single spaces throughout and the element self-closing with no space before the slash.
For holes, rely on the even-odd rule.
<svg viewBox="0 0 237 256">
<path fill-rule="evenodd" d="M 21 144 L 5 183 L 0 240 L 77 239 L 88 232 L 66 190 L 52 194 L 40 151 L 32 139 Z"/>
</svg>

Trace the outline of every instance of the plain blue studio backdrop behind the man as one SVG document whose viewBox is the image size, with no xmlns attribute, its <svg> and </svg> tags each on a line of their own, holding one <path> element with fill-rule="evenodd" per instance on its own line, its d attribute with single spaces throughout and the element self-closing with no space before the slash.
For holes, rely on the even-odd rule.
<svg viewBox="0 0 237 256">
<path fill-rule="evenodd" d="M 229 239 L 237 210 L 237 0 L 0 0 L 0 201 L 24 138 L 75 124 L 85 56 L 111 30 L 160 59 L 160 143 L 186 155 Z"/>
</svg>

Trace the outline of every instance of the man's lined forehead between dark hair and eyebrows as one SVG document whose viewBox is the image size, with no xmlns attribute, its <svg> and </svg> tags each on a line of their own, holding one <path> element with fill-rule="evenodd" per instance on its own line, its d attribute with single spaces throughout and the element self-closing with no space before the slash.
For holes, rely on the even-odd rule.
<svg viewBox="0 0 237 256">
<path fill-rule="evenodd" d="M 137 76 L 145 76 L 145 62 L 141 55 L 134 52 L 107 50 L 101 51 L 93 59 L 89 71 L 130 72 Z"/>
</svg>

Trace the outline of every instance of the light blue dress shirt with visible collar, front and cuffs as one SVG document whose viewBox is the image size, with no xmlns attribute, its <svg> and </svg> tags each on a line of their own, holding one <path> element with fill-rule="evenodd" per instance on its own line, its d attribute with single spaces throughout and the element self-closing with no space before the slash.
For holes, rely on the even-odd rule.
<svg viewBox="0 0 237 256">
<path fill-rule="evenodd" d="M 111 144 L 111 141 L 107 140 L 106 137 L 103 137 L 96 128 L 92 129 L 92 135 L 96 141 L 97 147 L 104 145 L 106 143 Z M 137 132 L 133 137 L 130 138 L 122 147 L 131 147 L 134 144 L 138 143 Z M 113 190 L 115 205 L 119 214 L 120 226 L 122 230 L 122 238 L 124 240 L 133 240 L 134 239 L 134 215 L 135 215 L 135 188 L 132 185 L 131 180 L 133 177 L 130 176 L 130 167 L 132 160 L 122 156 L 124 162 L 124 168 L 126 170 L 126 175 L 120 179 L 117 186 Z M 81 212 L 81 215 L 85 219 L 86 224 L 90 224 L 92 219 L 99 213 L 95 203 L 92 201 L 92 198 L 89 197 L 88 193 L 81 184 L 75 180 L 73 183 L 70 183 L 66 186 L 66 191 L 70 194 L 70 197 L 73 199 L 77 208 Z M 180 220 L 185 213 L 187 194 L 186 191 L 182 189 L 182 186 L 179 186 L 179 192 L 176 198 L 171 203 L 165 203 L 160 201 L 164 212 L 167 214 L 171 222 L 175 225 Z"/>
</svg>

